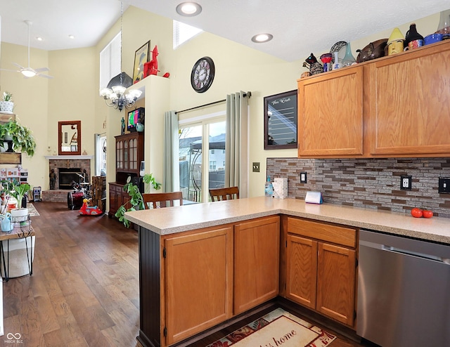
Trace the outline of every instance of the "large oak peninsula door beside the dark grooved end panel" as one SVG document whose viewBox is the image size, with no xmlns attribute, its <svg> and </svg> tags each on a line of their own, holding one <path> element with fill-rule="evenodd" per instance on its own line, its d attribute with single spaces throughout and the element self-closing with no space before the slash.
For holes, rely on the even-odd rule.
<svg viewBox="0 0 450 347">
<path fill-rule="evenodd" d="M 165 240 L 167 345 L 232 315 L 233 229 Z"/>
</svg>

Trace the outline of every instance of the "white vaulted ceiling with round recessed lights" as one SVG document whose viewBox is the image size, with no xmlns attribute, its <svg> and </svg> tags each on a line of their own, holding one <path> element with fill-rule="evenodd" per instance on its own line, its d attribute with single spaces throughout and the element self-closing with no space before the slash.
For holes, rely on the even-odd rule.
<svg viewBox="0 0 450 347">
<path fill-rule="evenodd" d="M 305 58 L 337 41 L 353 41 L 450 7 L 449 0 L 197 0 L 196 17 L 181 17 L 184 0 L 124 0 L 129 5 L 186 22 L 206 32 L 283 60 Z M 47 51 L 94 46 L 120 18 L 118 0 L 0 0 L 1 41 Z M 266 32 L 266 44 L 250 41 Z M 74 35 L 75 39 L 70 39 Z M 37 41 L 36 37 L 43 41 Z"/>
</svg>

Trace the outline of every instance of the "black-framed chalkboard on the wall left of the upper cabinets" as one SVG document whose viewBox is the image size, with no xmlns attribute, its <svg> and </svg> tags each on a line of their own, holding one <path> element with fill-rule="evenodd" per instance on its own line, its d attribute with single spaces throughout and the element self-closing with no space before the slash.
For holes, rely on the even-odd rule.
<svg viewBox="0 0 450 347">
<path fill-rule="evenodd" d="M 265 96 L 264 150 L 297 147 L 297 89 Z"/>
</svg>

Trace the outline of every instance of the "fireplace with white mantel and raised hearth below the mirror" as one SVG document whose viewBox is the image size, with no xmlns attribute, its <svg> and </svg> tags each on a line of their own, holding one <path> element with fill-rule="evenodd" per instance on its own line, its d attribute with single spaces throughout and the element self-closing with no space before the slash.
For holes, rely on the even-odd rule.
<svg viewBox="0 0 450 347">
<path fill-rule="evenodd" d="M 67 202 L 68 192 L 72 191 L 72 181 L 81 183 L 86 177 L 86 182 L 91 181 L 91 155 L 52 155 L 49 159 L 49 175 L 53 169 L 56 174 L 55 189 L 42 191 L 42 200 L 46 202 Z"/>
</svg>

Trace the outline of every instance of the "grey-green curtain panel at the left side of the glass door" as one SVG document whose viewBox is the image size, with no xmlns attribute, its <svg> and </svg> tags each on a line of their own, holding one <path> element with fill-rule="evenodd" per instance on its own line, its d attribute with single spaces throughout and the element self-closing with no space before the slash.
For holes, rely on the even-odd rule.
<svg viewBox="0 0 450 347">
<path fill-rule="evenodd" d="M 180 190 L 178 116 L 175 111 L 165 112 L 164 120 L 164 177 L 162 190 Z"/>
</svg>

